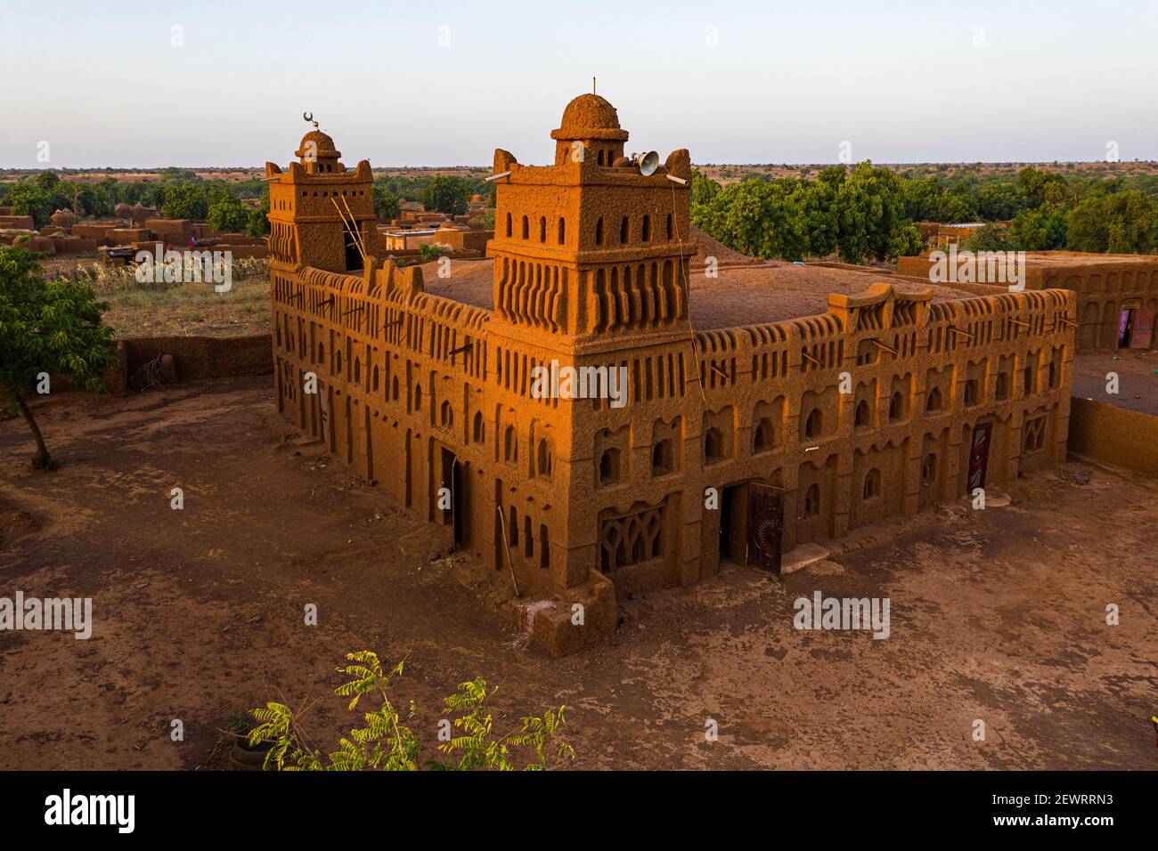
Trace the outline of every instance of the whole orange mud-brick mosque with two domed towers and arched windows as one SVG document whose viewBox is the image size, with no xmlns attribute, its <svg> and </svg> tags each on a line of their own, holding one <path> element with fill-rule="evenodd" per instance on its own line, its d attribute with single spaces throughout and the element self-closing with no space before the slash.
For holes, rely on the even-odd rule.
<svg viewBox="0 0 1158 851">
<path fill-rule="evenodd" d="M 365 248 L 367 161 L 347 170 L 313 131 L 265 167 L 279 410 L 513 573 L 551 652 L 614 630 L 620 594 L 776 571 L 1064 458 L 1071 291 L 779 263 L 692 286 L 688 152 L 643 174 L 595 95 L 551 138 L 550 166 L 496 151 L 491 259 L 430 292 Z M 625 404 L 543 397 L 536 367 L 622 367 Z"/>
</svg>

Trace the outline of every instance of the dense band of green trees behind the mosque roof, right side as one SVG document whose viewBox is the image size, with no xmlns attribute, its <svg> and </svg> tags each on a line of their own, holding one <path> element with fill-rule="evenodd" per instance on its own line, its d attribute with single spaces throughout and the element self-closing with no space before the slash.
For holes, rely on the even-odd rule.
<svg viewBox="0 0 1158 851">
<path fill-rule="evenodd" d="M 1158 177 L 907 177 L 870 162 L 815 178 L 749 177 L 726 186 L 696 174 L 691 221 L 743 254 L 846 263 L 919 254 L 918 221 L 994 222 L 975 249 L 1158 252 Z M 999 225 L 997 222 L 1009 222 Z"/>
</svg>

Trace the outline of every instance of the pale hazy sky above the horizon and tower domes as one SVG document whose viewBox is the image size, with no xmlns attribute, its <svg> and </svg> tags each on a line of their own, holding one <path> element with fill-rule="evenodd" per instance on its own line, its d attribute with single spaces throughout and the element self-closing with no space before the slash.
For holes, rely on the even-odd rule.
<svg viewBox="0 0 1158 851">
<path fill-rule="evenodd" d="M 543 163 L 593 75 L 697 163 L 1158 160 L 1158 0 L 0 0 L 0 168 L 286 163 L 303 110 L 347 164 Z"/>
</svg>

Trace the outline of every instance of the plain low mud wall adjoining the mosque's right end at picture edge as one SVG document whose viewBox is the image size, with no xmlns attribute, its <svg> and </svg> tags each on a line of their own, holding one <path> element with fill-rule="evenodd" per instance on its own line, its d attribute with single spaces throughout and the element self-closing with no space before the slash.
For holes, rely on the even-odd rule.
<svg viewBox="0 0 1158 851">
<path fill-rule="evenodd" d="M 1102 464 L 1158 476 L 1158 417 L 1075 396 L 1069 450 Z"/>
</svg>

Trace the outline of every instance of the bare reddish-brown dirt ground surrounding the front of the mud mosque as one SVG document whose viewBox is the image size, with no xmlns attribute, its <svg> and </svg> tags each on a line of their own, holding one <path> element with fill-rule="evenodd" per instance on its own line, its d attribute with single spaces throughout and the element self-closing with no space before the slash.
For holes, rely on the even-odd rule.
<svg viewBox="0 0 1158 851">
<path fill-rule="evenodd" d="M 49 474 L 0 420 L 0 596 L 90 596 L 95 626 L 0 632 L 0 769 L 215 766 L 225 717 L 279 697 L 316 699 L 307 726 L 336 742 L 334 669 L 358 648 L 408 656 L 397 698 L 420 738 L 479 675 L 498 728 L 566 704 L 584 769 L 1158 766 L 1153 479 L 1067 464 L 1009 507 L 787 577 L 732 567 L 624 601 L 611 640 L 551 659 L 496 609 L 501 573 L 431 560 L 430 528 L 303 443 L 267 379 L 37 413 Z M 887 596 L 891 637 L 794 630 L 814 590 Z"/>
</svg>

